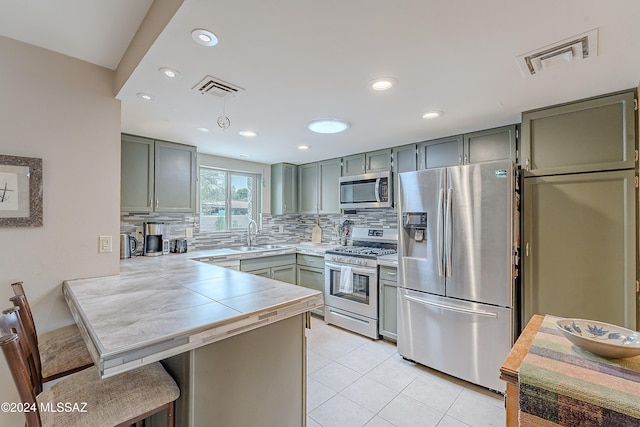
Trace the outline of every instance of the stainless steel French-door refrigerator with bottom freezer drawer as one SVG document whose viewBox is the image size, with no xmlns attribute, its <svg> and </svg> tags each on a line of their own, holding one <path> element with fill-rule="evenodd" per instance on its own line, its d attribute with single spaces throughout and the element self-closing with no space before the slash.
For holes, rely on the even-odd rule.
<svg viewBox="0 0 640 427">
<path fill-rule="evenodd" d="M 501 392 L 516 333 L 516 182 L 504 161 L 399 175 L 398 353 Z"/>
</svg>

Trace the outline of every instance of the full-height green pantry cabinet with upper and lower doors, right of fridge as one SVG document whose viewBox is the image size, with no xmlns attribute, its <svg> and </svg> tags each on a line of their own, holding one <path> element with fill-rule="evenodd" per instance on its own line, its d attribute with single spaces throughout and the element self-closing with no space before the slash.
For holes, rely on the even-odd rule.
<svg viewBox="0 0 640 427">
<path fill-rule="evenodd" d="M 522 115 L 523 318 L 637 327 L 636 91 Z"/>
</svg>

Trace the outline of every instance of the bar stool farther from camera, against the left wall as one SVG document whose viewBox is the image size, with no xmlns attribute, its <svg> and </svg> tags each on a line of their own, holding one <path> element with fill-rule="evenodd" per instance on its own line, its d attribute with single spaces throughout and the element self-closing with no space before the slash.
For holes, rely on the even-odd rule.
<svg viewBox="0 0 640 427">
<path fill-rule="evenodd" d="M 11 297 L 10 301 L 14 306 L 20 307 L 20 316 L 27 333 L 27 340 L 32 347 L 35 346 L 38 349 L 33 353 L 42 383 L 70 375 L 93 365 L 93 359 L 77 325 L 64 326 L 38 335 L 22 282 L 12 283 L 11 287 L 15 296 Z M 39 356 L 37 356 L 38 354 Z"/>
</svg>

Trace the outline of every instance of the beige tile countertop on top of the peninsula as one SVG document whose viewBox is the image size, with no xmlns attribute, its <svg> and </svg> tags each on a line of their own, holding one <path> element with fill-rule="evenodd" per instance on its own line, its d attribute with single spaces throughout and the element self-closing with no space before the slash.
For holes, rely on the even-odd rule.
<svg viewBox="0 0 640 427">
<path fill-rule="evenodd" d="M 220 251 L 209 255 L 233 255 Z M 190 259 L 205 252 L 135 257 L 121 262 L 119 275 L 64 282 L 103 378 L 324 303 L 318 291 Z"/>
</svg>

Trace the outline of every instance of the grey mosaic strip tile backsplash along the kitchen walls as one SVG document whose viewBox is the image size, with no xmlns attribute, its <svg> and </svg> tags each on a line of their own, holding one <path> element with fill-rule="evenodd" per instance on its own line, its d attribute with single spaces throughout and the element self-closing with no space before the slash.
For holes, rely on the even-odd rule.
<svg viewBox="0 0 640 427">
<path fill-rule="evenodd" d="M 367 209 L 356 211 L 355 214 L 324 214 L 324 215 L 271 215 L 262 214 L 262 224 L 254 243 L 300 243 L 311 241 L 311 231 L 316 223 L 322 228 L 322 242 L 338 244 L 335 226 L 349 221 L 349 227 L 381 227 L 397 228 L 397 213 L 392 209 Z M 201 232 L 200 215 L 190 214 L 161 214 L 161 213 L 120 213 L 120 231 L 133 232 L 136 226 L 143 222 L 161 221 L 169 225 L 169 239 L 184 238 L 186 229 L 193 229 L 193 237 L 187 238 L 189 250 L 215 249 L 232 246 L 242 246 L 247 243 L 246 230 L 225 232 Z M 282 232 L 280 229 L 282 228 Z"/>
</svg>

